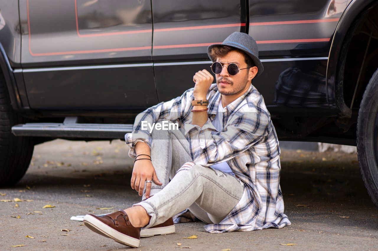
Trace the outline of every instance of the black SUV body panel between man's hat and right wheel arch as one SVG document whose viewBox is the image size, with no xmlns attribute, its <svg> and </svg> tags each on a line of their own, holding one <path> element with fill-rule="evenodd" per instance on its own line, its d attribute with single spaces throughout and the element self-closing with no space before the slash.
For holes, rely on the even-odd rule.
<svg viewBox="0 0 378 251">
<path fill-rule="evenodd" d="M 256 40 L 264 65 L 253 84 L 271 113 L 329 109 L 335 90 L 326 84 L 328 54 L 350 1 L 249 1 L 248 34 Z"/>
</svg>

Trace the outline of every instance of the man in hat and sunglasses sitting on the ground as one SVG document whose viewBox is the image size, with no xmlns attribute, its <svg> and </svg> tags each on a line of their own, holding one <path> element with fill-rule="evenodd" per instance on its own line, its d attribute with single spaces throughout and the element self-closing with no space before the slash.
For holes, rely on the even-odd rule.
<svg viewBox="0 0 378 251">
<path fill-rule="evenodd" d="M 138 114 L 125 135 L 129 156 L 137 157 L 131 187 L 142 201 L 105 216 L 87 214 L 90 230 L 138 247 L 140 236 L 173 233 L 172 217 L 186 209 L 210 233 L 290 225 L 276 131 L 252 85 L 263 72 L 256 41 L 234 32 L 209 46 L 208 55 L 215 84 L 206 69 L 198 71 L 193 88 Z M 180 130 L 158 130 L 167 121 Z M 150 133 L 142 122 L 155 128 Z"/>
</svg>

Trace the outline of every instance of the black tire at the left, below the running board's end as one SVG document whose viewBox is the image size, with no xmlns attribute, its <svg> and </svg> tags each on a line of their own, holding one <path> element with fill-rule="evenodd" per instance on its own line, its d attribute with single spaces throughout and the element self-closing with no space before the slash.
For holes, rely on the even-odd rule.
<svg viewBox="0 0 378 251">
<path fill-rule="evenodd" d="M 33 155 L 31 137 L 15 137 L 12 126 L 22 124 L 25 119 L 11 107 L 5 78 L 0 72 L 0 187 L 16 184 L 26 173 Z"/>
</svg>

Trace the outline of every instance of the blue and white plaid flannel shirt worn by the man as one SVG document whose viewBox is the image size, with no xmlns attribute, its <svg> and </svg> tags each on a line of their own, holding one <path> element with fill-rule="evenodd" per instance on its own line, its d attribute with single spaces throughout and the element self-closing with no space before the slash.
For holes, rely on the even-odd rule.
<svg viewBox="0 0 378 251">
<path fill-rule="evenodd" d="M 150 124 L 158 119 L 177 122 L 189 141 L 193 160 L 185 164 L 210 167 L 226 161 L 235 173 L 235 178 L 244 186 L 239 203 L 220 223 L 206 225 L 206 231 L 251 231 L 290 225 L 288 217 L 283 213 L 284 204 L 279 184 L 279 142 L 262 95 L 251 84 L 248 91 L 224 107 L 223 132 L 218 132 L 211 122 L 217 114 L 221 98 L 217 84 L 212 84 L 206 95 L 209 100 L 208 120 L 202 127 L 191 124 L 193 90 L 194 87 L 181 96 L 156 104 L 136 116 L 133 132 L 125 135 L 126 144 L 130 147 L 129 156 L 136 156 L 134 147 L 138 141 L 152 146 L 151 135 L 142 130 L 141 121 Z M 218 133 L 212 135 L 212 130 Z M 176 215 L 175 222 L 187 221 L 180 217 L 185 212 L 187 215 L 187 211 Z"/>
</svg>

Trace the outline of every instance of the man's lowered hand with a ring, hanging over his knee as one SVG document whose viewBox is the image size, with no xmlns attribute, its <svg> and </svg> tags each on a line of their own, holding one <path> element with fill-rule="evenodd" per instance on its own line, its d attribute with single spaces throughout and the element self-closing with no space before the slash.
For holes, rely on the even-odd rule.
<svg viewBox="0 0 378 251">
<path fill-rule="evenodd" d="M 139 158 L 142 158 L 140 156 Z M 145 181 L 153 181 L 156 185 L 163 185 L 156 175 L 155 168 L 149 159 L 135 161 L 131 176 L 131 187 L 142 196 Z M 146 198 L 150 197 L 151 183 L 146 184 Z"/>
</svg>

